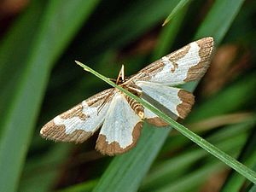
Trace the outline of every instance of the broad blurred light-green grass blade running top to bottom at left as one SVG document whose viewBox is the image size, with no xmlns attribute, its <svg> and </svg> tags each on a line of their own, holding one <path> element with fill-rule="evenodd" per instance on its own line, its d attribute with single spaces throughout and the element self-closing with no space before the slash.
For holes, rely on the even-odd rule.
<svg viewBox="0 0 256 192">
<path fill-rule="evenodd" d="M 42 2 L 45 3 L 45 1 Z M 24 55 L 17 52 L 16 62 L 9 63 L 13 55 L 7 53 L 10 58 L 3 57 L 5 63 L 0 61 L 1 65 L 10 65 L 22 72 L 20 76 L 15 77 L 15 86 L 9 89 L 13 95 L 12 100 L 8 100 L 4 105 L 5 115 L 0 117 L 0 191 L 16 191 L 50 70 L 97 2 L 95 0 L 47 2 L 48 6 L 44 9 L 36 29 L 29 26 L 29 18 L 29 20 L 22 20 L 26 21 L 29 29 L 35 30 L 26 58 L 23 59 Z M 35 11 L 38 9 L 41 7 L 38 6 Z M 18 35 L 16 38 L 26 38 L 26 36 Z M 15 38 L 10 38 L 9 44 L 19 47 L 20 44 L 16 44 L 14 40 Z M 6 43 L 6 46 L 9 44 Z M 24 61 L 22 65 L 18 60 L 19 57 Z M 6 77 L 12 77 L 12 73 Z M 7 82 L 8 80 L 6 79 Z"/>
</svg>

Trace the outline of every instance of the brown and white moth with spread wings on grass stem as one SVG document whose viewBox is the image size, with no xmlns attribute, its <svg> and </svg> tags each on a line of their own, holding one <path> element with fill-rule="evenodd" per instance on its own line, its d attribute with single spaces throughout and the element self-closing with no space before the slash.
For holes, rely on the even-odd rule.
<svg viewBox="0 0 256 192">
<path fill-rule="evenodd" d="M 115 83 L 148 102 L 154 103 L 173 119 L 184 119 L 195 98 L 178 84 L 201 79 L 212 57 L 213 38 L 201 38 L 177 49 L 125 77 L 122 66 Z M 143 120 L 156 126 L 166 122 L 148 108 L 116 88 L 103 90 L 50 120 L 41 129 L 42 137 L 61 142 L 83 143 L 96 131 L 96 150 L 102 154 L 123 154 L 135 147 Z"/>
</svg>

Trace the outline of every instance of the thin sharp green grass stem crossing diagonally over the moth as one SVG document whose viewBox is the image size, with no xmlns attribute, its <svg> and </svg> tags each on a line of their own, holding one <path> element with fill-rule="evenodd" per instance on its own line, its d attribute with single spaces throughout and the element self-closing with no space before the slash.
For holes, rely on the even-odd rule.
<svg viewBox="0 0 256 192">
<path fill-rule="evenodd" d="M 188 128 L 184 127 L 183 125 L 180 125 L 175 120 L 167 116 L 165 113 L 162 113 L 158 108 L 155 108 L 153 105 L 151 105 L 149 102 L 144 101 L 143 99 L 133 95 L 128 90 L 125 90 L 124 88 L 120 87 L 117 84 L 114 84 L 112 81 L 110 81 L 108 78 L 104 77 L 102 74 L 97 73 L 90 67 L 85 66 L 83 63 L 76 61 L 76 63 L 83 67 L 85 71 L 90 72 L 99 79 L 102 79 L 106 83 L 110 84 L 111 86 L 121 90 L 124 92 L 127 96 L 130 96 L 132 99 L 136 100 L 137 102 L 140 102 L 143 104 L 145 108 L 148 108 L 150 111 L 158 115 L 161 119 L 164 119 L 169 125 L 172 125 L 174 129 L 181 132 L 183 136 L 188 137 L 191 141 L 196 143 L 197 145 L 201 146 L 201 148 L 204 148 L 207 150 L 210 154 L 217 157 L 219 160 L 222 160 L 226 165 L 232 167 L 236 172 L 239 172 L 242 176 L 247 177 L 248 180 L 250 180 L 253 183 L 256 183 L 256 172 L 253 172 L 253 170 L 249 169 L 247 166 L 244 166 L 239 161 L 235 160 L 233 157 L 231 157 L 229 154 L 225 154 L 222 150 L 219 148 L 216 148 L 211 143 L 208 143 L 207 140 L 203 139 L 202 137 L 199 137 L 196 135 L 193 131 L 190 131 Z"/>
</svg>

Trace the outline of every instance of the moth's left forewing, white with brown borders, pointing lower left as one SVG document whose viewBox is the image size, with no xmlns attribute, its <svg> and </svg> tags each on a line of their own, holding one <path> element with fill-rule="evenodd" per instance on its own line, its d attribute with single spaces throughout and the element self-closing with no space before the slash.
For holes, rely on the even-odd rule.
<svg viewBox="0 0 256 192">
<path fill-rule="evenodd" d="M 104 90 L 56 116 L 41 129 L 41 136 L 55 141 L 83 143 L 102 125 L 112 99 L 109 94 L 114 94 L 113 91 Z M 104 106 L 99 112 L 103 102 Z"/>
</svg>

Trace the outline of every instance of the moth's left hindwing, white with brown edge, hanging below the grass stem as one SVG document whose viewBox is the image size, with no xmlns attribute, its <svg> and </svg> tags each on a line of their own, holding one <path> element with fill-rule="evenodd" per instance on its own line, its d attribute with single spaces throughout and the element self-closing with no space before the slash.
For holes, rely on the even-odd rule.
<svg viewBox="0 0 256 192">
<path fill-rule="evenodd" d="M 96 149 L 108 155 L 124 153 L 137 143 L 142 123 L 142 119 L 132 110 L 125 95 L 117 93 L 108 108 Z"/>
</svg>

